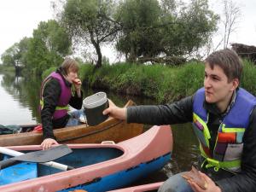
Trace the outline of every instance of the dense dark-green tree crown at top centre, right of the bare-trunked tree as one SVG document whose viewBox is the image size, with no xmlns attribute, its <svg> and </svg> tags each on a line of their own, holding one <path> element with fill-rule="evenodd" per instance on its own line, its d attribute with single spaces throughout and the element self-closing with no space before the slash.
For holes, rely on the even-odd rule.
<svg viewBox="0 0 256 192">
<path fill-rule="evenodd" d="M 157 0 L 126 0 L 115 15 L 121 23 L 117 49 L 127 61 L 152 57 L 160 52 L 160 5 Z"/>
</svg>

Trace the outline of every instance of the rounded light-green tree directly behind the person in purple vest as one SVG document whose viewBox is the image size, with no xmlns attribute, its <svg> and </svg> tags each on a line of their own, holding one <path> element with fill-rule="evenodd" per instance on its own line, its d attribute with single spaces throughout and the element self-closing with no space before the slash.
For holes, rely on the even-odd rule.
<svg viewBox="0 0 256 192">
<path fill-rule="evenodd" d="M 67 32 L 55 20 L 41 21 L 24 58 L 26 69 L 41 75 L 47 68 L 59 66 L 63 57 L 71 53 L 71 44 Z"/>
</svg>

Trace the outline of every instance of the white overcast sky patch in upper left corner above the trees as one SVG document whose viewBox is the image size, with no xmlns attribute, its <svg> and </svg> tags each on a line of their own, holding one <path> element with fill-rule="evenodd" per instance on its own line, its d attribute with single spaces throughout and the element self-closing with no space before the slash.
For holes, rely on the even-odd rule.
<svg viewBox="0 0 256 192">
<path fill-rule="evenodd" d="M 0 0 L 0 55 L 24 37 L 32 37 L 42 20 L 52 18 L 50 0 Z"/>
</svg>

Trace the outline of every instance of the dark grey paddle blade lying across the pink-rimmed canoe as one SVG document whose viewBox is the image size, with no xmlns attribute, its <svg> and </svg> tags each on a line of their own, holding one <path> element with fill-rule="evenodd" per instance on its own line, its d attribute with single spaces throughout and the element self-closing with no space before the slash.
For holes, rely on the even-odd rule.
<svg viewBox="0 0 256 192">
<path fill-rule="evenodd" d="M 56 160 L 62 156 L 70 154 L 72 152 L 71 148 L 68 148 L 67 145 L 59 145 L 55 148 L 49 148 L 47 150 L 34 151 L 27 154 L 22 154 L 16 156 L 14 160 L 28 161 L 34 163 L 44 163 L 51 160 Z"/>
</svg>

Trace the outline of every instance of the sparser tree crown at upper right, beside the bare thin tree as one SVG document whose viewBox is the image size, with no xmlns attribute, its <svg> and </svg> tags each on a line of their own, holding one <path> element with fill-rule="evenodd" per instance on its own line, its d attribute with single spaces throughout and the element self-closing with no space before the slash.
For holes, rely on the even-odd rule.
<svg viewBox="0 0 256 192">
<path fill-rule="evenodd" d="M 166 55 L 190 55 L 207 44 L 212 33 L 217 30 L 218 15 L 208 7 L 207 0 L 191 0 L 188 5 L 177 6 L 179 12 L 161 30 L 164 53 Z M 166 12 L 164 19 L 170 18 Z M 166 20 L 165 20 L 166 22 Z"/>
</svg>

